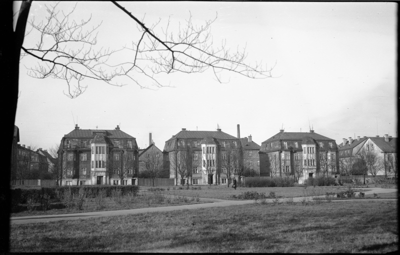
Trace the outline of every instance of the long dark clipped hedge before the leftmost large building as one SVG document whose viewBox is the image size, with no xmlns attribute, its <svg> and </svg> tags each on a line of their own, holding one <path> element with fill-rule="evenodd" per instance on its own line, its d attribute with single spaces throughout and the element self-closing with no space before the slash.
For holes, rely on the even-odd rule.
<svg viewBox="0 0 400 255">
<path fill-rule="evenodd" d="M 64 191 L 70 190 L 73 194 L 78 194 L 79 189 L 83 188 L 83 191 L 86 193 L 86 198 L 88 197 L 96 197 L 100 190 L 105 190 L 107 197 L 111 195 L 111 191 L 120 190 L 121 195 L 124 195 L 128 192 L 133 194 L 137 194 L 139 187 L 136 185 L 99 185 L 99 186 L 61 186 L 61 187 L 41 187 L 40 189 L 11 189 L 11 202 L 12 204 L 25 204 L 26 199 L 29 197 L 33 197 L 33 200 L 39 201 L 43 195 L 47 195 L 50 199 L 57 198 L 57 194 L 63 194 Z"/>
</svg>

